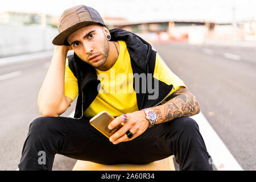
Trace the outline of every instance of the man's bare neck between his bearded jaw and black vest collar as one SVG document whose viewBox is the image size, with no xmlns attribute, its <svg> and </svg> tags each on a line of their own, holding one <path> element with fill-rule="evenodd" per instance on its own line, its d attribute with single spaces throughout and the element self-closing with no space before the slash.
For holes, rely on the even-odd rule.
<svg viewBox="0 0 256 182">
<path fill-rule="evenodd" d="M 114 44 L 117 45 L 117 48 L 115 48 Z M 119 52 L 119 43 L 109 41 L 109 53 L 108 53 L 108 57 L 106 59 L 106 63 L 104 65 L 102 65 L 101 67 L 98 67 L 97 69 L 99 69 L 100 71 L 108 71 L 110 68 L 112 68 L 118 59 L 117 49 Z"/>
</svg>

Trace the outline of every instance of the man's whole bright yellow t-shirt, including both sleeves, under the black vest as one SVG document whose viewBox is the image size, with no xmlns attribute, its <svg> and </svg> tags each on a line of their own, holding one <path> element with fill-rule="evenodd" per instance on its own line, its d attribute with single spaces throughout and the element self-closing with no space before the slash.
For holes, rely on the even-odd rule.
<svg viewBox="0 0 256 182">
<path fill-rule="evenodd" d="M 113 67 L 108 71 L 96 69 L 98 79 L 101 81 L 101 88 L 92 104 L 84 111 L 85 117 L 93 117 L 103 110 L 108 111 L 114 117 L 138 110 L 137 96 L 133 89 L 133 69 L 131 67 L 130 55 L 126 43 L 122 40 L 118 41 L 118 43 L 119 56 Z M 170 94 L 175 92 L 180 86 L 185 86 L 184 82 L 163 63 L 158 54 L 156 54 L 153 77 L 168 85 L 174 85 L 174 89 L 172 89 Z M 68 61 L 66 61 L 65 96 L 70 97 L 73 101 L 77 94 L 77 78 L 69 69 Z"/>
</svg>

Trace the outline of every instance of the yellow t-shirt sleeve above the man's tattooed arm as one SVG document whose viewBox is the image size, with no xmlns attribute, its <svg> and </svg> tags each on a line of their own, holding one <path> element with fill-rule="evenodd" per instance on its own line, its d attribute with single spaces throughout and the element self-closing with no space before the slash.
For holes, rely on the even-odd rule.
<svg viewBox="0 0 256 182">
<path fill-rule="evenodd" d="M 156 53 L 156 61 L 155 61 L 155 70 L 154 70 L 154 78 L 158 78 L 158 80 L 163 81 L 167 85 L 173 85 L 174 87 L 171 90 L 171 93 L 168 94 L 170 96 L 172 93 L 174 93 L 177 89 L 180 88 L 180 86 L 184 86 L 187 88 L 187 86 L 184 84 L 183 80 L 181 80 L 178 76 L 176 76 L 170 68 L 164 63 L 162 58 Z M 168 97 L 167 96 L 167 97 Z M 164 104 L 166 101 L 163 101 L 162 104 Z"/>
</svg>

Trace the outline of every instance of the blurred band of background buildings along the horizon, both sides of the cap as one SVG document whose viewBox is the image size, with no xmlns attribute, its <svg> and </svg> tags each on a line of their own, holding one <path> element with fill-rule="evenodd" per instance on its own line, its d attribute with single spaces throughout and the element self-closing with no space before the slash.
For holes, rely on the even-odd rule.
<svg viewBox="0 0 256 182">
<path fill-rule="evenodd" d="M 0 14 L 0 23 L 42 24 L 56 28 L 59 16 L 38 13 L 6 12 Z M 206 41 L 250 41 L 256 42 L 256 21 L 233 21 L 226 23 L 205 20 L 165 20 L 129 22 L 122 17 L 102 17 L 106 27 L 121 28 L 151 41 L 186 41 L 201 44 Z"/>
</svg>

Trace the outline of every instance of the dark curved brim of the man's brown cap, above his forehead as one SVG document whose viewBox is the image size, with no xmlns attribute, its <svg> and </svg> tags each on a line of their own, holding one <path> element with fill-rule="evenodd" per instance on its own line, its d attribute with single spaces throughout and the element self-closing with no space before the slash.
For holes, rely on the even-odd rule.
<svg viewBox="0 0 256 182">
<path fill-rule="evenodd" d="M 85 21 L 85 22 L 79 22 L 77 24 L 74 24 L 72 27 L 69 27 L 66 30 L 64 30 L 63 32 L 61 32 L 60 34 L 58 34 L 52 40 L 52 43 L 56 46 L 69 46 L 68 44 L 65 44 L 65 40 L 68 38 L 69 35 L 71 35 L 75 31 L 79 30 L 79 28 L 88 26 L 90 24 L 96 24 L 96 23 L 100 23 L 100 22 L 96 22 L 96 21 L 93 21 L 93 20 L 88 20 L 88 21 Z M 102 24 L 102 25 L 104 25 L 104 24 Z"/>
</svg>

